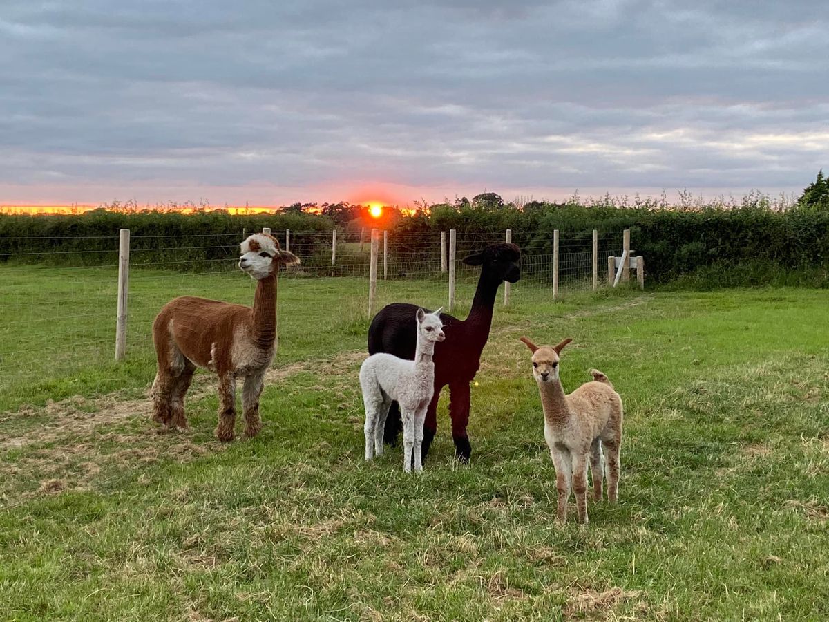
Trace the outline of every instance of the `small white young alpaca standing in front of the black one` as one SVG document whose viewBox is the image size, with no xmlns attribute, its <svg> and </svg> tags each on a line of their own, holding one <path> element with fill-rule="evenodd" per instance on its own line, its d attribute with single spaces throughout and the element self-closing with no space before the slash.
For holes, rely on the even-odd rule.
<svg viewBox="0 0 829 622">
<path fill-rule="evenodd" d="M 366 406 L 366 460 L 383 454 L 383 430 L 392 401 L 400 404 L 403 421 L 403 470 L 422 471 L 421 448 L 426 408 L 434 393 L 434 344 L 443 341 L 444 325 L 440 312 L 425 313 L 418 309 L 417 345 L 414 361 L 407 361 L 385 352 L 372 354 L 360 367 L 360 386 Z"/>
</svg>

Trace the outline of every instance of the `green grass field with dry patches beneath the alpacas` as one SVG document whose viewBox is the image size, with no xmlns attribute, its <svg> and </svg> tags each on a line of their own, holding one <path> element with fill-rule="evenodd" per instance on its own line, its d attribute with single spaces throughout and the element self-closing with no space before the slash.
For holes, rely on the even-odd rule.
<svg viewBox="0 0 829 622">
<path fill-rule="evenodd" d="M 146 329 L 192 281 L 135 276 L 128 362 L 115 365 L 100 319 L 114 325 L 114 313 L 98 311 L 111 275 L 71 299 L 77 308 L 38 302 L 95 282 L 79 274 L 0 274 L 4 304 L 39 322 L 2 328 L 0 617 L 829 616 L 825 292 L 515 296 L 497 309 L 473 387 L 471 464 L 453 461 L 442 402 L 424 473 L 405 477 L 400 449 L 362 460 L 363 281 L 280 283 L 266 427 L 220 445 L 207 375 L 191 389 L 190 430 L 158 435 L 148 420 Z M 200 277 L 199 291 L 249 301 L 250 283 L 233 277 Z M 439 284 L 382 289 L 384 302 L 433 307 L 443 295 Z M 620 503 L 589 503 L 587 527 L 555 522 L 522 334 L 573 337 L 565 388 L 599 367 L 625 401 Z M 21 343 L 30 355 L 14 372 Z M 38 348 L 64 348 L 65 361 Z"/>
</svg>

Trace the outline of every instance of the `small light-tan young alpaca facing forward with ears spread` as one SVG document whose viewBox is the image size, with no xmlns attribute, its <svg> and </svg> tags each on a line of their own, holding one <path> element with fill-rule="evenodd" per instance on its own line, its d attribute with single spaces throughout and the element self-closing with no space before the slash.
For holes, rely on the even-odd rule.
<svg viewBox="0 0 829 622">
<path fill-rule="evenodd" d="M 557 346 L 536 346 L 521 341 L 532 351 L 532 375 L 536 378 L 544 408 L 544 439 L 555 464 L 555 488 L 559 494 L 558 518 L 567 520 L 570 488 L 575 490 L 579 521 L 587 522 L 587 463 L 593 477 L 593 498 L 602 499 L 602 474 L 608 479 L 608 501 L 616 503 L 619 485 L 619 450 L 622 446 L 622 398 L 604 373 L 590 370 L 585 382 L 565 396 L 559 379 L 559 354 L 572 339 Z M 603 469 L 602 447 L 607 451 Z"/>
</svg>

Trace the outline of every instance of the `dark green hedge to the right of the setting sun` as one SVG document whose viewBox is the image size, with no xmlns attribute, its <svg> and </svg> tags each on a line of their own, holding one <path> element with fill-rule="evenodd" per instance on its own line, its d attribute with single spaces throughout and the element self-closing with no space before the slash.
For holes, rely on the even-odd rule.
<svg viewBox="0 0 829 622">
<path fill-rule="evenodd" d="M 631 245 L 647 260 L 653 283 L 680 280 L 696 287 L 806 284 L 829 286 L 829 211 L 761 206 L 694 211 L 584 207 L 539 203 L 530 209 L 476 211 L 436 207 L 406 218 L 410 232 L 512 230 L 525 253 L 549 254 L 553 231 L 570 252 L 589 252 L 592 232 L 630 229 Z"/>
</svg>

